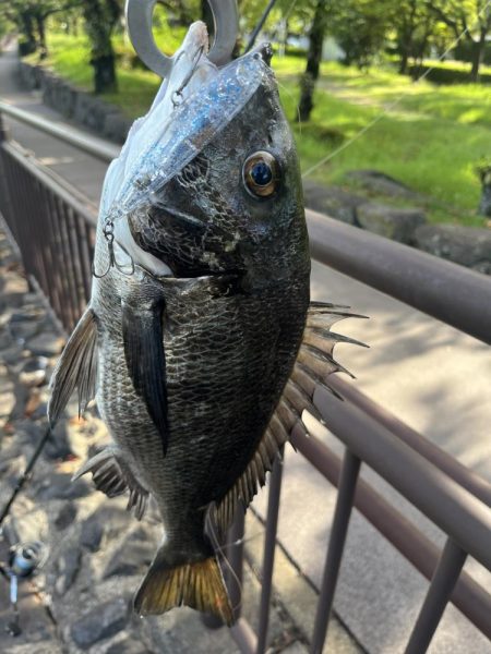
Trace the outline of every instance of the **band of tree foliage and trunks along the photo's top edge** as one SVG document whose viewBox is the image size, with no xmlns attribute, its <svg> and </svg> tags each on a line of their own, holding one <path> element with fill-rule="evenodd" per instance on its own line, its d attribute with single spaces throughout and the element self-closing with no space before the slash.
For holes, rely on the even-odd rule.
<svg viewBox="0 0 491 654">
<path fill-rule="evenodd" d="M 115 53 L 111 36 L 122 26 L 124 0 L 0 0 L 0 24 L 15 24 L 22 53 L 45 57 L 46 22 L 62 16 L 63 24 L 76 25 L 84 19 L 91 40 L 91 62 L 97 93 L 116 88 Z M 189 25 L 205 19 L 211 32 L 213 20 L 206 0 L 158 0 L 156 20 L 170 26 Z M 238 0 L 241 43 L 258 24 L 265 0 Z M 164 19 L 163 19 L 164 16 Z M 73 19 L 73 20 L 72 20 Z M 50 19 L 51 21 L 53 19 Z M 4 27 L 3 27 L 4 29 Z M 488 0 L 276 0 L 264 25 L 270 38 L 286 47 L 288 35 L 309 36 L 306 74 L 302 77 L 301 113 L 310 113 L 322 50 L 322 37 L 332 35 L 345 52 L 345 62 L 367 68 L 390 50 L 399 57 L 399 72 L 415 70 L 433 52 L 443 53 L 459 39 L 470 60 L 470 76 L 478 80 L 486 46 L 491 35 Z M 418 68 L 418 66 L 416 66 Z"/>
</svg>

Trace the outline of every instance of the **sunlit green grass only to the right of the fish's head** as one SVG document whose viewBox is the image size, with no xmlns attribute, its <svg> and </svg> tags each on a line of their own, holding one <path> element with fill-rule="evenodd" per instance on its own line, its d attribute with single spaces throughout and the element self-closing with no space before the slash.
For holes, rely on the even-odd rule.
<svg viewBox="0 0 491 654">
<path fill-rule="evenodd" d="M 285 65 L 285 64 L 283 64 Z M 287 114 L 295 116 L 298 92 L 291 71 L 282 80 Z M 328 89 L 328 87 L 332 87 Z M 315 95 L 311 125 L 294 125 L 304 170 L 336 150 L 404 94 L 387 114 L 313 173 L 320 182 L 343 184 L 347 171 L 381 170 L 428 201 L 433 221 L 482 226 L 474 211 L 480 185 L 475 166 L 491 152 L 490 93 L 475 86 L 411 86 L 390 72 L 370 73 L 327 64 Z M 336 137 L 337 134 L 343 135 Z M 447 205 L 448 210 L 443 207 Z"/>
</svg>

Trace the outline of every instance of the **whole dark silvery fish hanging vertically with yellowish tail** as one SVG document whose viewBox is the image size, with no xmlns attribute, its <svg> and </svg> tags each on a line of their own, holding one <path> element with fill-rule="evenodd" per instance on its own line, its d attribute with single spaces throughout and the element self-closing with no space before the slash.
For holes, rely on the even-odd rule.
<svg viewBox="0 0 491 654">
<path fill-rule="evenodd" d="M 53 425 L 73 392 L 95 399 L 111 445 L 92 474 L 152 498 L 163 541 L 134 596 L 139 615 L 187 605 L 233 623 L 206 529 L 224 533 L 302 427 L 316 385 L 344 371 L 332 325 L 346 307 L 310 301 L 300 167 L 260 46 L 223 68 L 194 23 L 105 179 L 87 308 L 51 379 Z M 320 416 L 319 416 L 320 417 Z"/>
</svg>

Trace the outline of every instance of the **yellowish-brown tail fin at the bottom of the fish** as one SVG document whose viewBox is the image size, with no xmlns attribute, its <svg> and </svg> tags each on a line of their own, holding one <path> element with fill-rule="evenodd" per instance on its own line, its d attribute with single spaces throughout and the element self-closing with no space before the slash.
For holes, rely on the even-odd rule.
<svg viewBox="0 0 491 654">
<path fill-rule="evenodd" d="M 159 615 L 184 605 L 211 613 L 228 627 L 233 623 L 227 589 L 214 556 L 178 566 L 169 566 L 163 559 L 160 549 L 136 591 L 133 606 L 139 615 Z"/>
</svg>

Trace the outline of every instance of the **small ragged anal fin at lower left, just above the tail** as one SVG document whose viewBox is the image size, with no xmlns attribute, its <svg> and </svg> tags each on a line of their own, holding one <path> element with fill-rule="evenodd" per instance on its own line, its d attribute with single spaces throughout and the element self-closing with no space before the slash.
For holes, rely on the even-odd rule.
<svg viewBox="0 0 491 654">
<path fill-rule="evenodd" d="M 134 510 L 137 520 L 143 518 L 148 499 L 148 491 L 136 480 L 130 467 L 124 462 L 116 447 L 106 447 L 101 452 L 88 459 L 73 475 L 74 482 L 87 472 L 92 473 L 92 481 L 97 491 L 108 497 L 117 497 L 125 491 L 130 492 L 127 510 Z"/>
</svg>

